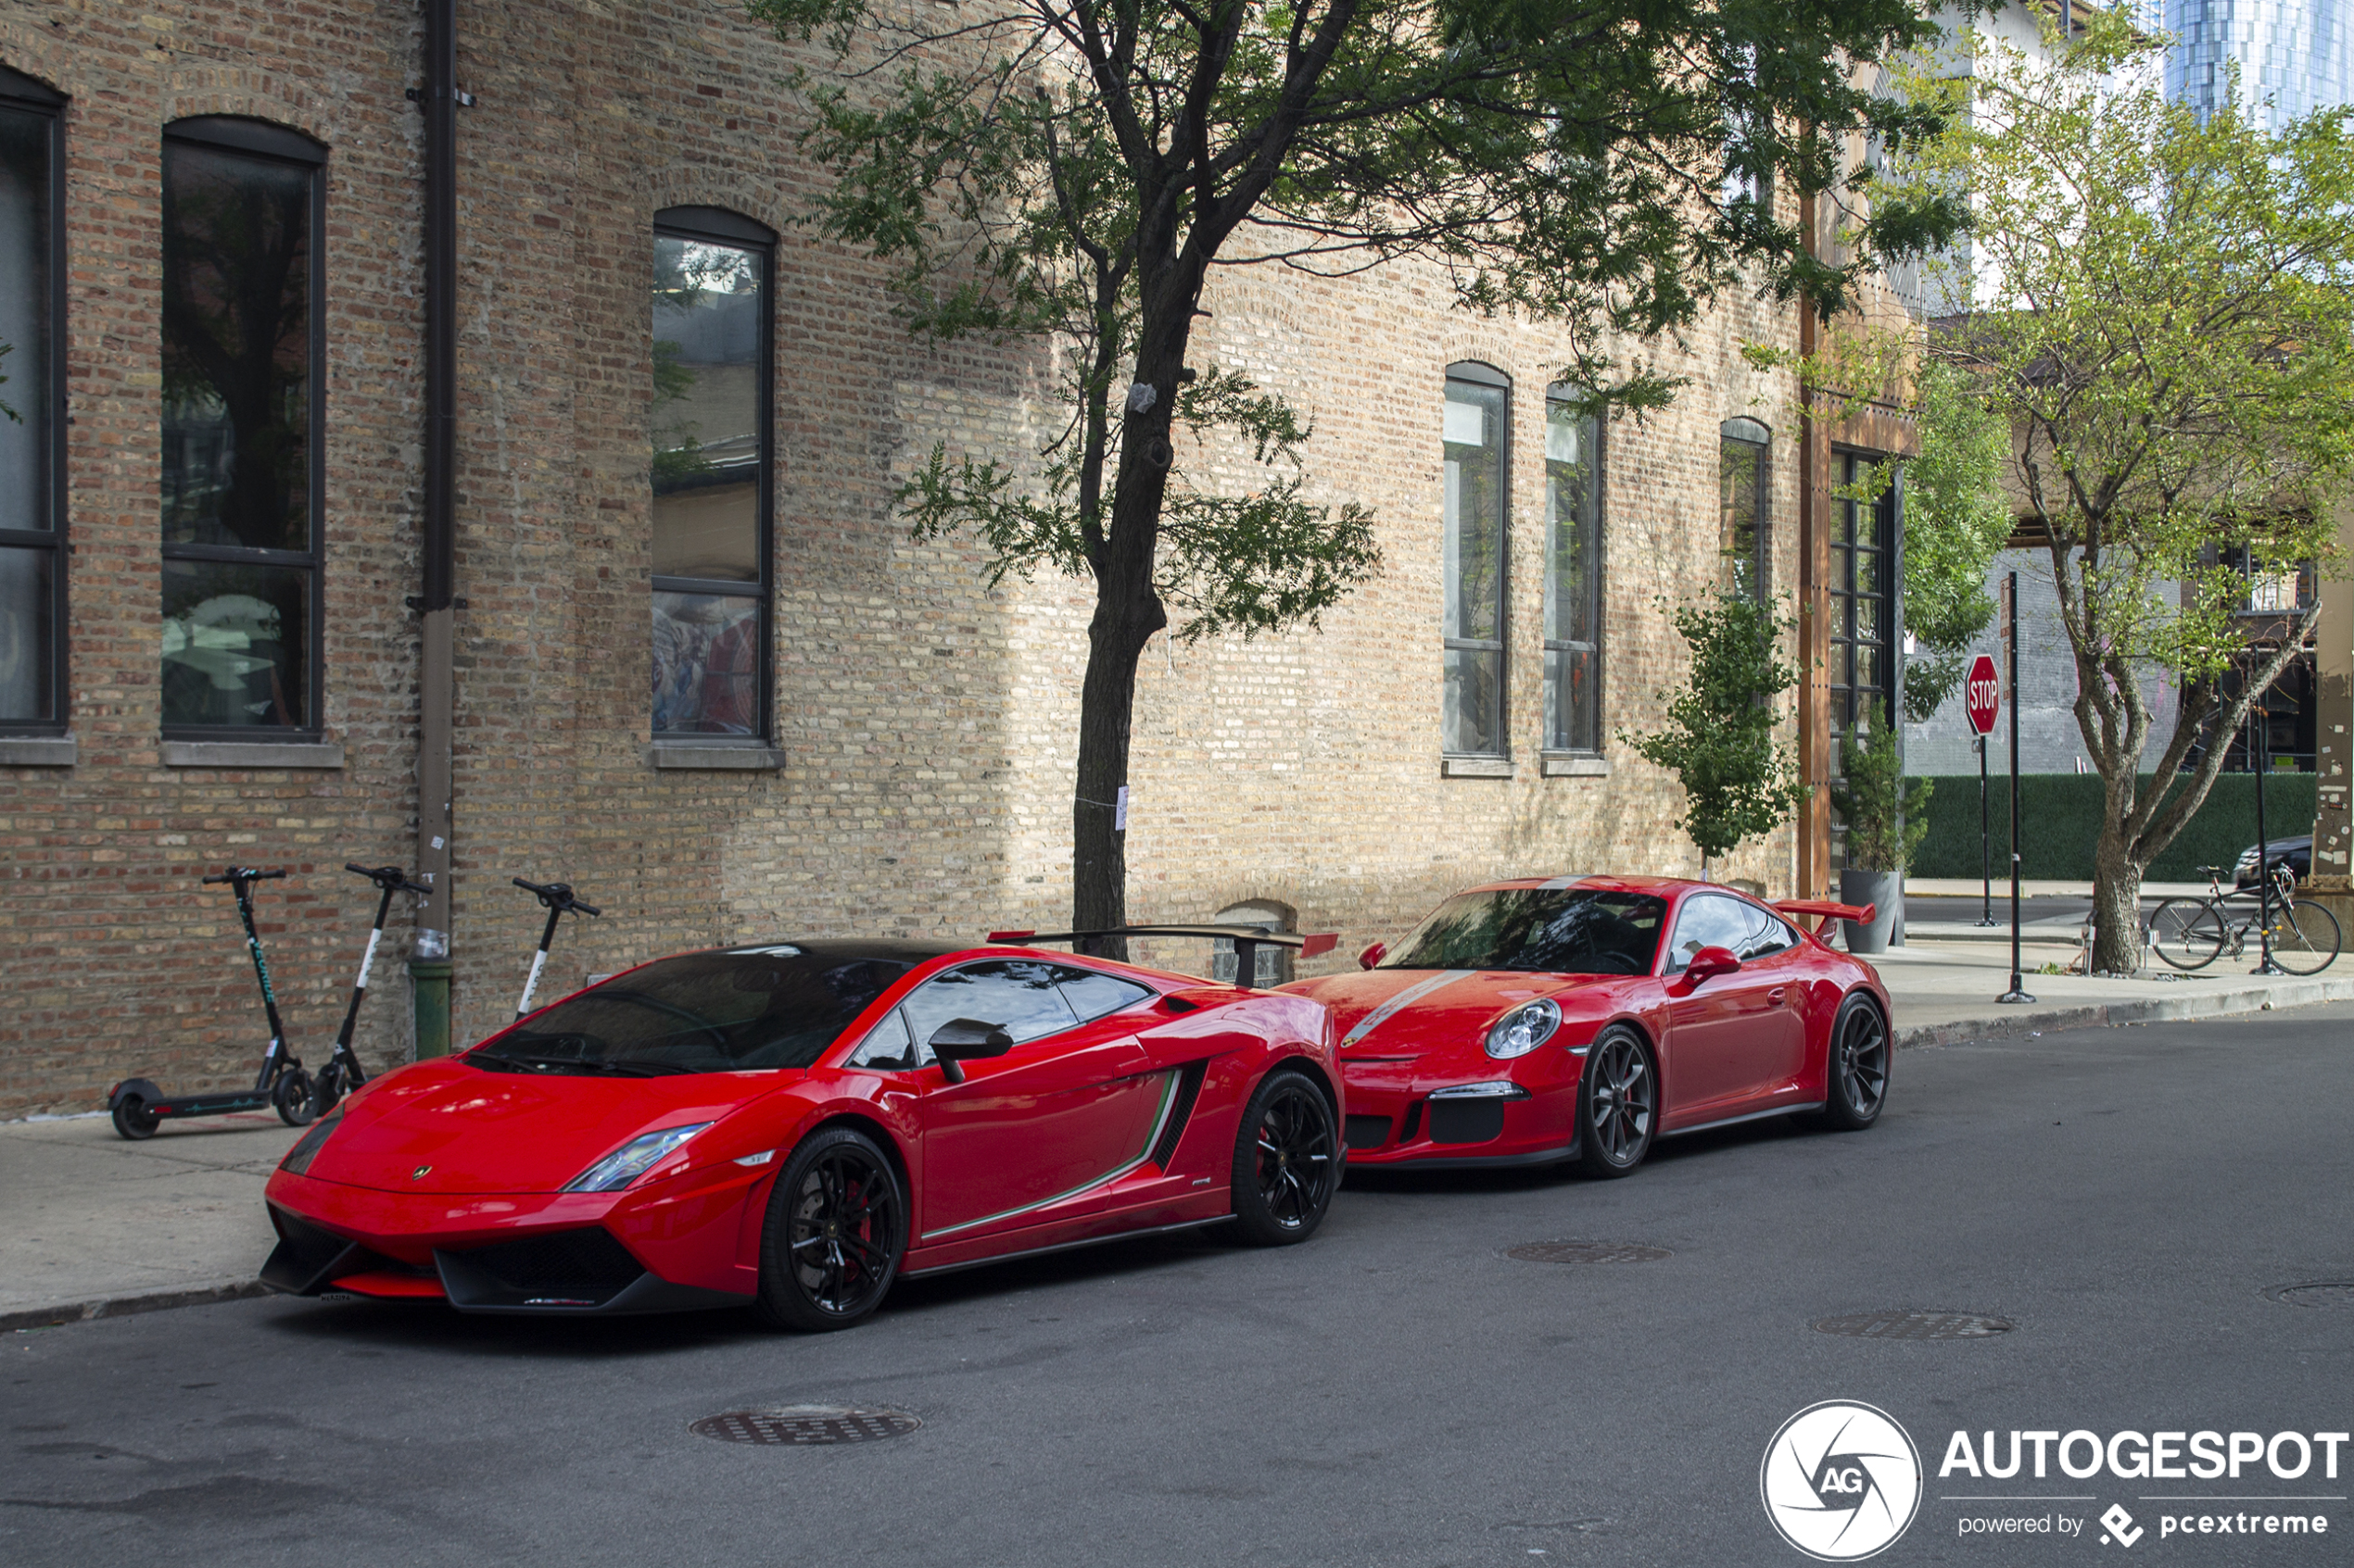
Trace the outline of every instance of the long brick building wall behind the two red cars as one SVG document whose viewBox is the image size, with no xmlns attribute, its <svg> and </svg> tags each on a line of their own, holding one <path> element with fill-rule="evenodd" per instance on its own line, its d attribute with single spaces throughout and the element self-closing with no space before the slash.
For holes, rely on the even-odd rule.
<svg viewBox="0 0 2354 1568">
<path fill-rule="evenodd" d="M 0 0 L 0 397 L 26 418 L 0 442 L 0 1117 L 252 1074 L 233 905 L 198 886 L 231 860 L 294 872 L 264 936 L 315 1060 L 370 910 L 341 865 L 417 863 L 421 49 L 405 0 Z M 605 910 L 558 985 L 749 936 L 1066 917 L 1085 592 L 984 590 L 890 505 L 935 440 L 1036 449 L 1048 376 L 911 343 L 871 266 L 791 228 L 791 63 L 725 5 L 459 7 L 459 1041 L 537 936 L 511 875 Z M 1135 917 L 1255 905 L 1354 950 L 1483 877 L 1697 870 L 1674 780 L 1615 736 L 1681 670 L 1657 602 L 1718 581 L 1728 541 L 1893 679 L 1897 604 L 1838 592 L 1874 545 L 1893 567 L 1893 515 L 1827 498 L 1831 433 L 1801 447 L 1791 376 L 1740 355 L 1798 346 L 1796 310 L 1728 303 L 1671 350 L 1676 407 L 1596 440 L 1549 411 L 1547 329 L 1452 313 L 1434 275 L 1243 270 L 1210 303 L 1196 364 L 1316 414 L 1316 484 L 1377 512 L 1387 567 L 1316 635 L 1149 651 Z M 1902 444 L 1878 414 L 1843 435 Z M 1556 524 L 1587 529 L 1551 585 L 1587 614 L 1549 637 Z M 1481 529 L 1502 576 L 1467 567 Z M 1485 607 L 1452 637 L 1450 592 Z M 1808 628 L 1820 778 L 1848 644 Z M 1827 856 L 1817 802 L 1721 875 L 1820 886 Z M 384 964 L 370 1067 L 412 1027 Z"/>
</svg>

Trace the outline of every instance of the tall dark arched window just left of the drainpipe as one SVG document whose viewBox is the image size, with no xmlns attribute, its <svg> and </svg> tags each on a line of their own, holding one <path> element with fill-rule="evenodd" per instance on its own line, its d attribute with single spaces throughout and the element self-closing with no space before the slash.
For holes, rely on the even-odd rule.
<svg viewBox="0 0 2354 1568">
<path fill-rule="evenodd" d="M 165 733 L 320 726 L 325 160 L 259 120 L 165 127 Z"/>
</svg>

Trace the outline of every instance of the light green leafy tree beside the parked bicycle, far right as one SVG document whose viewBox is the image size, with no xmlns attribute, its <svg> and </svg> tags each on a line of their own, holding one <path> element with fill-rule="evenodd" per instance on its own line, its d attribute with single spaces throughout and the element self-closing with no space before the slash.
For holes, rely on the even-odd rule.
<svg viewBox="0 0 2354 1568">
<path fill-rule="evenodd" d="M 2168 103 L 2121 16 L 2046 47 L 1916 75 L 1911 101 L 1968 115 L 1893 188 L 1973 193 L 1975 259 L 1947 268 L 1968 310 L 1933 353 L 2001 414 L 2046 538 L 2104 783 L 2093 969 L 2123 971 L 2144 867 L 2312 630 L 2279 588 L 2330 562 L 2354 480 L 2354 143 L 2335 108 L 2269 134 L 2241 101 Z M 2180 689 L 2163 736 L 2152 670 Z"/>
</svg>

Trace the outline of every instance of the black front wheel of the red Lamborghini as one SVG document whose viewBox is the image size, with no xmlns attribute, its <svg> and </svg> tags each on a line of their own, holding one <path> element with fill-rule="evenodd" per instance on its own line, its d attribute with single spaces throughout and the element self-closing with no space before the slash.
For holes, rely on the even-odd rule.
<svg viewBox="0 0 2354 1568">
<path fill-rule="evenodd" d="M 850 1328 L 883 1305 L 904 1258 L 899 1171 L 866 1133 L 824 1128 L 793 1150 L 770 1192 L 753 1316 L 803 1333 Z"/>
</svg>

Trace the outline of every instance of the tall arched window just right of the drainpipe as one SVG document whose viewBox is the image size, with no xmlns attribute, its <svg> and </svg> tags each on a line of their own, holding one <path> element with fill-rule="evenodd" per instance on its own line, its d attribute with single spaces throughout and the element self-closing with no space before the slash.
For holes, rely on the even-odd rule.
<svg viewBox="0 0 2354 1568">
<path fill-rule="evenodd" d="M 654 738 L 767 736 L 770 268 L 718 207 L 654 214 Z"/>
</svg>

